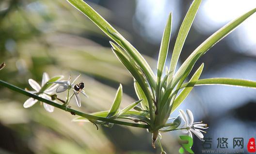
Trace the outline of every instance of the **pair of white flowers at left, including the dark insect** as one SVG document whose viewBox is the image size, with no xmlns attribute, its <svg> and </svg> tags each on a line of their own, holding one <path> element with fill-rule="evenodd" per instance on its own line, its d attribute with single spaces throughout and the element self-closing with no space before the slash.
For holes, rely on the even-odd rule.
<svg viewBox="0 0 256 154">
<path fill-rule="evenodd" d="M 75 84 L 75 82 L 77 81 L 77 79 L 79 77 L 80 77 L 80 75 L 71 83 L 70 82 L 71 76 L 69 76 L 67 81 L 60 81 L 63 78 L 63 76 L 53 77 L 50 79 L 49 75 L 46 72 L 44 72 L 43 77 L 42 77 L 41 86 L 33 79 L 29 79 L 29 84 L 31 85 L 33 90 L 32 91 L 27 90 L 27 89 L 25 89 L 25 90 L 34 95 L 38 95 L 41 98 L 45 98 L 45 99 L 51 100 L 56 103 L 57 103 L 57 100 L 59 100 L 62 103 L 64 103 L 63 104 L 64 106 L 67 106 L 70 102 L 70 99 L 73 98 L 73 96 L 75 96 L 76 103 L 80 107 L 81 106 L 81 98 L 80 98 L 79 94 L 81 93 L 85 97 L 88 97 L 88 96 L 86 95 L 85 91 L 83 90 L 84 83 L 80 82 L 79 84 Z M 54 92 L 62 93 L 66 90 L 67 90 L 66 100 L 62 100 L 61 98 L 58 98 L 58 96 L 56 94 L 54 94 Z M 71 96 L 69 96 L 70 90 L 73 91 L 73 94 Z M 25 103 L 23 104 L 23 107 L 24 108 L 32 107 L 36 102 L 38 102 L 37 99 L 29 98 L 25 101 Z M 48 112 L 54 111 L 54 107 L 47 103 L 43 102 L 43 106 L 46 109 L 46 111 L 48 111 Z"/>
</svg>

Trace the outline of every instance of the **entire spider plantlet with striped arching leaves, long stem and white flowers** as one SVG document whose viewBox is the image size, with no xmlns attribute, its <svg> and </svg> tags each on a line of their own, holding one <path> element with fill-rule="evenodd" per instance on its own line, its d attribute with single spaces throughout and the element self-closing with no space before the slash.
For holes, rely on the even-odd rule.
<svg viewBox="0 0 256 154">
<path fill-rule="evenodd" d="M 183 100 L 192 91 L 192 88 L 196 85 L 205 84 L 224 84 L 233 86 L 243 86 L 256 88 L 255 81 L 242 80 L 242 79 L 230 79 L 230 78 L 210 78 L 210 79 L 199 79 L 204 68 L 204 63 L 195 71 L 192 78 L 189 79 L 188 83 L 184 83 L 188 75 L 191 73 L 192 68 L 196 61 L 203 56 L 215 43 L 222 40 L 226 35 L 228 35 L 232 30 L 237 28 L 245 19 L 256 12 L 253 9 L 246 14 L 241 15 L 237 19 L 231 21 L 223 28 L 212 34 L 206 41 L 200 44 L 192 54 L 184 61 L 180 68 L 175 72 L 177 61 L 179 59 L 181 50 L 183 48 L 186 37 L 192 26 L 194 17 L 198 11 L 201 0 L 194 0 L 190 6 L 188 13 L 186 14 L 181 27 L 178 32 L 175 47 L 172 53 L 171 62 L 169 68 L 164 71 L 164 66 L 166 65 L 166 57 L 168 55 L 168 48 L 171 36 L 172 28 L 172 14 L 169 15 L 166 27 L 163 32 L 163 37 L 160 46 L 160 52 L 157 64 L 157 74 L 154 74 L 153 70 L 150 68 L 149 64 L 146 62 L 144 57 L 133 47 L 118 31 L 116 31 L 104 18 L 102 18 L 93 8 L 91 8 L 83 0 L 67 0 L 70 4 L 80 10 L 89 19 L 91 19 L 96 26 L 98 26 L 107 36 L 112 39 L 110 42 L 112 46 L 112 51 L 120 60 L 120 62 L 127 68 L 127 70 L 132 74 L 134 78 L 134 88 L 136 94 L 139 98 L 138 101 L 131 103 L 124 109 L 120 109 L 120 103 L 122 100 L 122 85 L 120 84 L 115 99 L 113 101 L 112 107 L 109 111 L 95 112 L 95 113 L 83 113 L 68 107 L 70 98 L 75 95 L 78 106 L 80 107 L 80 97 L 79 92 L 82 94 L 84 91 L 74 89 L 74 82 L 70 84 L 70 79 L 68 81 L 57 81 L 58 79 L 49 79 L 45 84 L 42 84 L 42 89 L 37 91 L 37 93 L 30 93 L 23 89 L 20 89 L 12 84 L 8 84 L 0 80 L 0 85 L 10 88 L 16 92 L 23 95 L 34 98 L 38 101 L 42 101 L 51 106 L 60 108 L 64 111 L 71 112 L 72 114 L 79 115 L 74 121 L 89 121 L 95 125 L 102 126 L 113 126 L 113 124 L 134 126 L 146 128 L 150 133 L 152 133 L 152 146 L 155 147 L 155 141 L 158 140 L 160 144 L 160 133 L 174 131 L 174 130 L 184 130 L 186 133 L 192 137 L 194 133 L 200 140 L 203 140 L 204 136 L 200 132 L 201 129 L 207 128 L 206 124 L 193 123 L 193 115 L 190 110 L 187 110 L 187 115 L 185 112 L 180 110 L 180 116 L 176 118 L 170 118 L 171 113 L 174 112 L 178 106 L 183 102 Z M 76 79 L 75 79 L 76 80 Z M 59 84 L 57 88 L 57 93 L 64 92 L 68 90 L 66 100 L 58 98 L 56 94 L 51 94 L 51 98 L 45 99 L 42 94 L 48 89 L 50 84 Z M 55 86 L 55 85 L 54 85 Z M 72 89 L 74 94 L 69 96 L 69 90 Z M 181 92 L 178 94 L 178 92 Z M 79 92 L 78 92 L 79 91 Z M 85 93 L 83 94 L 87 96 Z M 64 103 L 60 105 L 53 100 L 59 100 Z M 35 101 L 35 100 L 34 100 Z M 141 105 L 141 108 L 137 105 Z M 135 109 L 135 111 L 131 111 Z M 181 118 L 185 121 L 185 126 L 181 126 Z M 118 119 L 118 120 L 117 120 Z M 121 119 L 129 119 L 133 122 L 125 122 Z M 174 119 L 174 120 L 173 120 Z M 134 123 L 135 122 L 135 123 Z M 199 128 L 199 129 L 198 129 Z M 204 131 L 202 131 L 204 132 Z M 161 147 L 161 145 L 160 145 Z M 161 152 L 164 151 L 161 148 Z"/>
</svg>

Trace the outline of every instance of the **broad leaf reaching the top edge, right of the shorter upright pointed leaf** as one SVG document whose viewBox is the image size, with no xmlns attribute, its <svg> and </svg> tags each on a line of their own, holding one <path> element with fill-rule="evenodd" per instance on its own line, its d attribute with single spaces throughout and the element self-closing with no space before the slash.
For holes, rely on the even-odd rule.
<svg viewBox="0 0 256 154">
<path fill-rule="evenodd" d="M 198 8 L 201 4 L 201 0 L 194 0 L 189 8 L 188 13 L 186 14 L 179 32 L 178 32 L 178 36 L 175 42 L 175 46 L 174 46 L 174 51 L 173 51 L 173 55 L 172 55 L 172 59 L 171 59 L 171 64 L 170 64 L 170 71 L 172 72 L 171 75 L 169 76 L 169 82 L 172 82 L 172 78 L 173 78 L 173 74 L 174 71 L 176 69 L 176 65 L 179 59 L 179 55 L 181 53 L 181 50 L 183 48 L 183 45 L 185 43 L 185 40 L 188 36 L 189 30 L 192 26 L 193 20 L 195 18 L 195 15 L 198 11 Z"/>
</svg>

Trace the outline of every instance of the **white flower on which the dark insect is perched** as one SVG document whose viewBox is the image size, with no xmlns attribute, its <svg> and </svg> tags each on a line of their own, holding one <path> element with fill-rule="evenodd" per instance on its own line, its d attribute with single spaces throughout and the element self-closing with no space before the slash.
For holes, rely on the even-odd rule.
<svg viewBox="0 0 256 154">
<path fill-rule="evenodd" d="M 81 76 L 81 74 L 79 74 L 76 79 L 71 83 L 71 76 L 69 76 L 68 80 L 67 81 L 57 81 L 57 82 L 53 82 L 55 84 L 59 84 L 59 86 L 57 87 L 56 89 L 56 93 L 62 93 L 64 91 L 66 91 L 67 89 L 70 90 L 72 89 L 73 92 L 74 92 L 74 95 L 75 95 L 75 99 L 76 99 L 76 102 L 77 102 L 77 105 L 78 107 L 81 107 L 81 98 L 79 96 L 79 93 L 82 93 L 85 97 L 88 98 L 88 96 L 86 95 L 85 91 L 84 90 L 80 90 L 80 91 L 76 91 L 74 89 L 74 86 L 76 86 L 77 84 L 74 84 L 77 79 Z M 69 97 L 69 96 L 68 96 Z"/>
</svg>

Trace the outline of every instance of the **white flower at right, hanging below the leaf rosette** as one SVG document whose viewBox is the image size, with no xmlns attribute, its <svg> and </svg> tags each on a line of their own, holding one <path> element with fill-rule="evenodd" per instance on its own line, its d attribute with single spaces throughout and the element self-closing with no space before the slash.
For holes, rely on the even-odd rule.
<svg viewBox="0 0 256 154">
<path fill-rule="evenodd" d="M 194 123 L 194 117 L 190 110 L 187 109 L 187 114 L 183 110 L 179 110 L 181 118 L 185 121 L 185 124 L 182 126 L 182 132 L 189 133 L 189 136 L 192 137 L 192 133 L 194 133 L 200 140 L 204 140 L 204 135 L 202 132 L 206 133 L 201 129 L 207 129 L 207 124 L 203 124 L 203 122 Z"/>
</svg>

